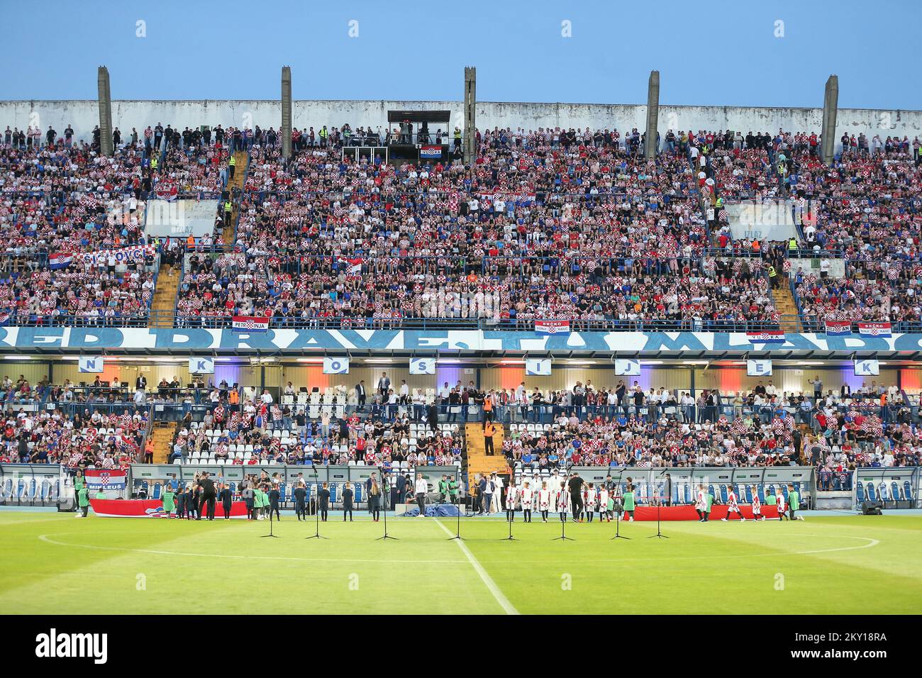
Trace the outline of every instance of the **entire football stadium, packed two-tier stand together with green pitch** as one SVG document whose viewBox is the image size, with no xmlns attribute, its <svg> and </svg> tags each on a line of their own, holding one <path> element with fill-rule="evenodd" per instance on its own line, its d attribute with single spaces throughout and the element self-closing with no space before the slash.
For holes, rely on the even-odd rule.
<svg viewBox="0 0 922 678">
<path fill-rule="evenodd" d="M 0 101 L 0 610 L 917 613 L 922 112 L 455 75 Z"/>
</svg>

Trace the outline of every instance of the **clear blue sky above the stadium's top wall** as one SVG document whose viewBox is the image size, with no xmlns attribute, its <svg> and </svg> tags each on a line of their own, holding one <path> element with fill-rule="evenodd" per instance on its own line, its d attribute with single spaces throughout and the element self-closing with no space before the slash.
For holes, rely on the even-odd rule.
<svg viewBox="0 0 922 678">
<path fill-rule="evenodd" d="M 922 109 L 918 0 L 468 4 L 6 0 L 0 100 L 95 99 L 98 65 L 113 99 L 277 99 L 290 65 L 295 99 L 457 101 L 476 65 L 480 101 L 643 103 L 657 68 L 665 104 L 822 106 L 835 73 L 842 108 Z"/>
</svg>

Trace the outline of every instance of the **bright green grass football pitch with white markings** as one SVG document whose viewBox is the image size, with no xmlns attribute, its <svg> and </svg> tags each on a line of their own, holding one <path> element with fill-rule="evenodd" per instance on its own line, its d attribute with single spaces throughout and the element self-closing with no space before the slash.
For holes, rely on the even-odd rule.
<svg viewBox="0 0 922 678">
<path fill-rule="evenodd" d="M 0 513 L 0 613 L 918 613 L 922 517 L 321 523 Z M 193 603 L 192 601 L 195 601 Z M 202 602 L 206 601 L 206 602 Z"/>
</svg>

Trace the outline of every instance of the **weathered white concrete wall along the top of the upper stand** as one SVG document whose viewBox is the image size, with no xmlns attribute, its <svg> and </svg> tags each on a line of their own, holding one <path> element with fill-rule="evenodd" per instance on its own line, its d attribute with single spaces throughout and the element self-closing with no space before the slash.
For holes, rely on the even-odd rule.
<svg viewBox="0 0 922 678">
<path fill-rule="evenodd" d="M 464 125 L 461 101 L 293 101 L 293 125 L 303 128 L 321 125 L 338 126 L 349 123 L 353 127 L 368 126 L 376 129 L 385 126 L 388 110 L 430 109 L 451 112 L 451 126 Z M 477 122 L 480 129 L 502 127 L 589 127 L 605 129 L 617 127 L 621 132 L 632 127 L 644 129 L 645 104 L 595 104 L 595 103 L 502 103 L 482 101 L 477 105 Z M 235 125 L 261 127 L 281 124 L 279 101 L 112 101 L 112 125 L 118 127 L 123 138 L 131 128 L 138 132 L 147 125 Z M 99 125 L 99 109 L 95 100 L 79 101 L 0 101 L 0 129 L 24 128 L 39 125 L 47 130 L 53 125 L 63 133 L 73 125 L 78 138 L 89 138 L 93 127 Z M 665 136 L 669 128 L 680 129 L 739 129 L 743 134 L 789 131 L 815 131 L 822 129 L 822 108 L 760 108 L 742 106 L 660 106 L 659 131 Z M 910 140 L 922 135 L 922 111 L 887 111 L 840 108 L 836 126 L 836 139 L 844 132 L 864 132 L 869 139 L 875 134 L 908 136 Z"/>
</svg>

